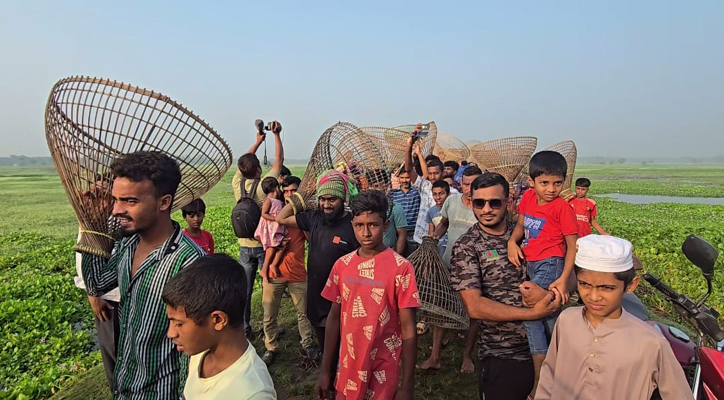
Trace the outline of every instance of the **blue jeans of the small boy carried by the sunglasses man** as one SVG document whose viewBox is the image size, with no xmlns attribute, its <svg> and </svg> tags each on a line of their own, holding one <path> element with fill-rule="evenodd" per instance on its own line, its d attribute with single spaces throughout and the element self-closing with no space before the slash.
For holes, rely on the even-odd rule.
<svg viewBox="0 0 724 400">
<path fill-rule="evenodd" d="M 528 278 L 543 289 L 548 289 L 551 283 L 563 274 L 563 257 L 551 257 L 540 261 L 528 262 Z M 553 333 L 553 326 L 559 312 L 535 321 L 525 321 L 525 331 L 528 334 L 528 346 L 531 354 L 546 354 L 548 343 Z"/>
</svg>

